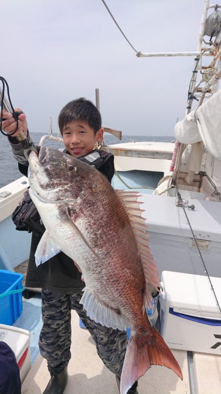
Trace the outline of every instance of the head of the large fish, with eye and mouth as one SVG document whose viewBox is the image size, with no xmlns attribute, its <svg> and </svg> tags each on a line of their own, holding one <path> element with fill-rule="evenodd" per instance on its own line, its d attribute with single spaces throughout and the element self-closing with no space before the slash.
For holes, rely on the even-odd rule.
<svg viewBox="0 0 221 394">
<path fill-rule="evenodd" d="M 38 154 L 31 151 L 28 162 L 32 191 L 38 197 L 54 201 L 79 198 L 84 188 L 93 183 L 97 172 L 69 154 L 44 146 Z"/>
</svg>

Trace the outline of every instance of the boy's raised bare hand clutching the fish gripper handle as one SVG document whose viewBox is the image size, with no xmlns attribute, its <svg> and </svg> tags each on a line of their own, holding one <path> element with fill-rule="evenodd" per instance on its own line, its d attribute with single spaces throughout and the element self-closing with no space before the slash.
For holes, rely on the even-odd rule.
<svg viewBox="0 0 221 394">
<path fill-rule="evenodd" d="M 15 111 L 22 111 L 22 110 L 20 108 L 15 108 Z M 5 131 L 6 133 L 8 133 L 10 135 L 11 133 L 13 133 L 14 130 L 16 130 L 17 122 L 13 118 L 13 116 L 10 112 L 3 111 L 2 118 L 5 119 L 5 121 L 2 121 L 1 128 L 3 131 Z M 19 125 L 18 130 L 16 131 L 15 134 L 13 134 L 13 137 L 16 137 L 22 131 L 24 131 L 27 136 L 28 123 L 26 121 L 26 114 L 23 113 L 18 116 L 18 125 Z"/>
</svg>

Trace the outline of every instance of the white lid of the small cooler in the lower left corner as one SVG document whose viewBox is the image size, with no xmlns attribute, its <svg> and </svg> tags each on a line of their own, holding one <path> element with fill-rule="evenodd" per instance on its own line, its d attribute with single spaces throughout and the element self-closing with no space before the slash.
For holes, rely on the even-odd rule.
<svg viewBox="0 0 221 394">
<path fill-rule="evenodd" d="M 15 353 L 17 363 L 30 344 L 30 333 L 14 326 L 0 324 L 0 340 L 7 343 Z"/>
</svg>

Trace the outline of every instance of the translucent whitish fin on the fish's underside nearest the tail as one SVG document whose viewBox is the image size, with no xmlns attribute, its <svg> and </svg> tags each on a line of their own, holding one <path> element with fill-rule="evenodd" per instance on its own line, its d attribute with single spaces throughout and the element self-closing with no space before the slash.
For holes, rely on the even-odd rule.
<svg viewBox="0 0 221 394">
<path fill-rule="evenodd" d="M 127 320 L 121 314 L 103 304 L 86 287 L 83 289 L 80 303 L 83 304 L 87 316 L 102 326 L 118 330 L 126 330 L 129 327 Z"/>
</svg>

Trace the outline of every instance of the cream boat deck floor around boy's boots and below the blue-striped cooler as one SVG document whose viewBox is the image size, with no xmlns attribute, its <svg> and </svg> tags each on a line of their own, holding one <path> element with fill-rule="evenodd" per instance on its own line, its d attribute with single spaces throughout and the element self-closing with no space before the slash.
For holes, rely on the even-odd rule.
<svg viewBox="0 0 221 394">
<path fill-rule="evenodd" d="M 172 352 L 181 366 L 183 381 L 166 367 L 152 366 L 139 379 L 139 394 L 221 394 L 221 356 L 193 353 L 192 358 L 183 350 Z M 114 375 L 97 356 L 95 344 L 88 331 L 79 326 L 75 311 L 71 353 L 64 394 L 118 394 Z M 43 393 L 48 380 L 47 362 L 39 355 L 23 382 L 22 394 Z"/>
</svg>

